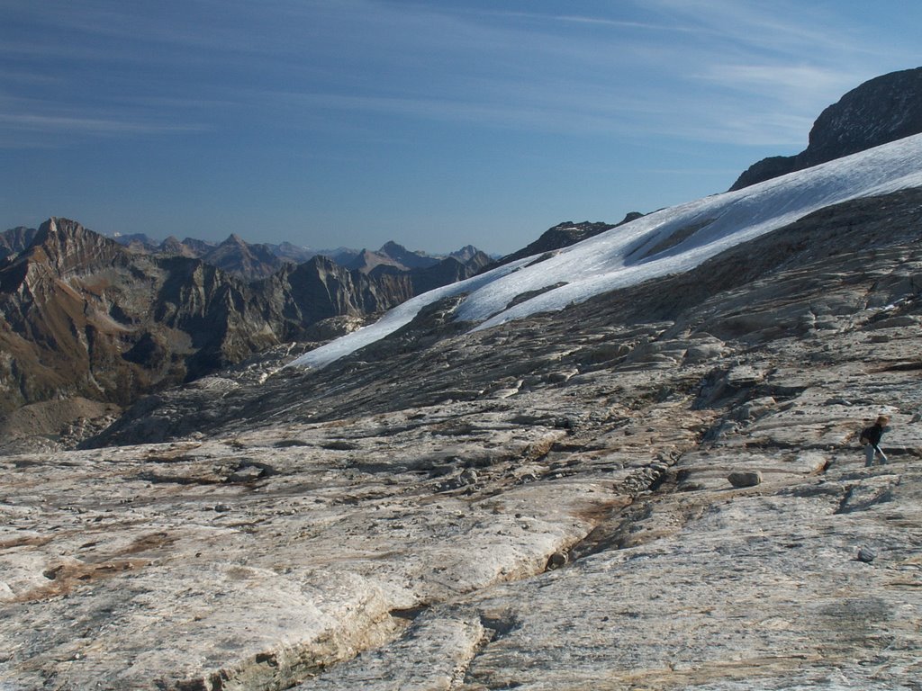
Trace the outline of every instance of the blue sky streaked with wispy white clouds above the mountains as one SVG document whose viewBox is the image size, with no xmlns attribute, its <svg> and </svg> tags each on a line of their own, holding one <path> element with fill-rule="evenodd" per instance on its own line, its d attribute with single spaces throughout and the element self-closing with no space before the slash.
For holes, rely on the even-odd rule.
<svg viewBox="0 0 922 691">
<path fill-rule="evenodd" d="M 722 192 L 917 0 L 0 0 L 0 228 L 512 252 Z"/>
</svg>

